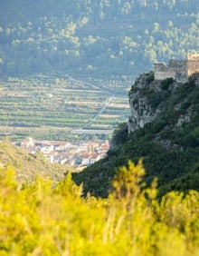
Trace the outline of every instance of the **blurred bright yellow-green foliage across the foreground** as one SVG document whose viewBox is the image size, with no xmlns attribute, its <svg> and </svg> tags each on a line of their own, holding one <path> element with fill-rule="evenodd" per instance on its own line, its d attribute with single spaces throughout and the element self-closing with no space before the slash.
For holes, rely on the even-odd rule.
<svg viewBox="0 0 199 256">
<path fill-rule="evenodd" d="M 49 180 L 19 187 L 11 167 L 0 171 L 0 254 L 192 256 L 199 253 L 199 193 L 156 200 L 142 162 L 116 175 L 108 199 L 81 198 L 81 186 Z"/>
</svg>

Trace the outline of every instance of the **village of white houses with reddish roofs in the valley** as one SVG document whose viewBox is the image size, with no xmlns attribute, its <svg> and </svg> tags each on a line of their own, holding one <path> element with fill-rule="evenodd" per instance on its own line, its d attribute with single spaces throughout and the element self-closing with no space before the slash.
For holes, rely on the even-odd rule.
<svg viewBox="0 0 199 256">
<path fill-rule="evenodd" d="M 58 162 L 73 167 L 86 167 L 106 156 L 109 141 L 84 142 L 74 145 L 67 142 L 37 142 L 26 138 L 21 148 L 30 154 L 43 153 L 48 162 Z"/>
</svg>

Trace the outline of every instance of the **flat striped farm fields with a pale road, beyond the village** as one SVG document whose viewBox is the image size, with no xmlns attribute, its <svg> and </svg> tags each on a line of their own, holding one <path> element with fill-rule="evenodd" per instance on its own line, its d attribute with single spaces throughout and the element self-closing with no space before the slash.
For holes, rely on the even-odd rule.
<svg viewBox="0 0 199 256">
<path fill-rule="evenodd" d="M 128 119 L 130 84 L 130 79 L 74 79 L 60 74 L 1 79 L 1 134 L 63 139 L 75 131 L 111 133 Z"/>
</svg>

